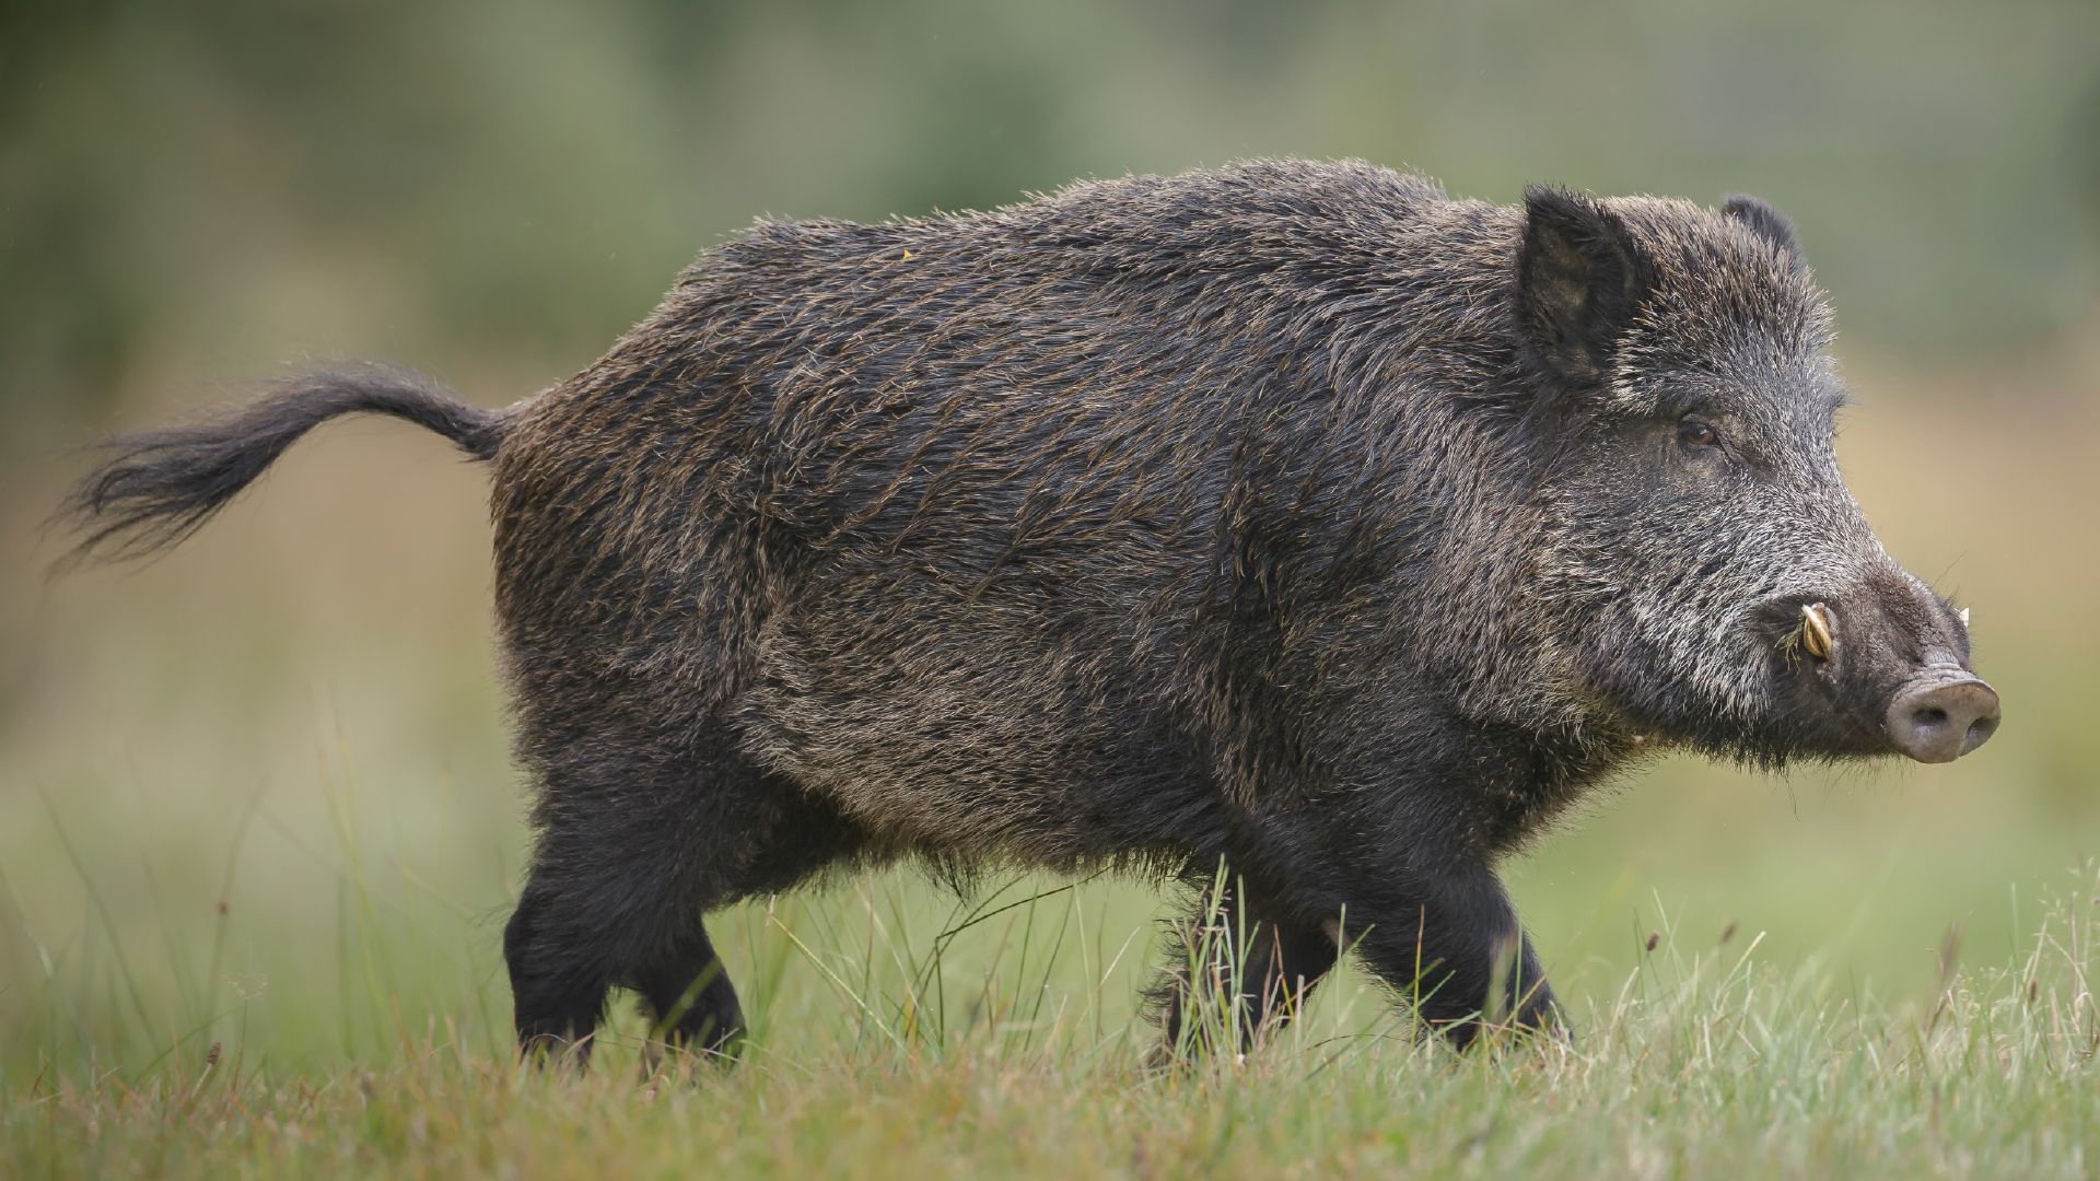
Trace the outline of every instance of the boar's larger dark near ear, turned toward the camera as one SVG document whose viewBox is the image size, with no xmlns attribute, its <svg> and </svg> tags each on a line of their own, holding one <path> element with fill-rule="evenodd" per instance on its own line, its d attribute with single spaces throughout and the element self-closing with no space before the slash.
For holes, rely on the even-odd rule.
<svg viewBox="0 0 2100 1181">
<path fill-rule="evenodd" d="M 1525 189 L 1516 317 L 1548 370 L 1579 387 L 1604 380 L 1611 349 L 1653 282 L 1617 214 L 1560 189 Z"/>
</svg>

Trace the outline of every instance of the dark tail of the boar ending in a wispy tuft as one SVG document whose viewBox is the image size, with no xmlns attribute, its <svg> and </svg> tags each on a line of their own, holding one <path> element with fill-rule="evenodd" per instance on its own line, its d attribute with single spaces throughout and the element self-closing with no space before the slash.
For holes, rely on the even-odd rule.
<svg viewBox="0 0 2100 1181">
<path fill-rule="evenodd" d="M 80 532 L 59 567 L 151 557 L 195 534 L 300 435 L 336 414 L 393 414 L 496 458 L 508 416 L 388 366 L 319 370 L 239 408 L 101 443 L 107 458 L 67 492 L 52 525 Z"/>
</svg>

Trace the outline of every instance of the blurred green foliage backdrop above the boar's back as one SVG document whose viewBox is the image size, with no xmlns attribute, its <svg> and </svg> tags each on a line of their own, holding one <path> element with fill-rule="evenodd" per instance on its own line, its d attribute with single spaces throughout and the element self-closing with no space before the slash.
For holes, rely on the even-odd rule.
<svg viewBox="0 0 2100 1181">
<path fill-rule="evenodd" d="M 1844 326 L 2090 313 L 2090 0 L 29 0 L 0 8 L 0 420 L 170 364 L 561 376 L 750 216 L 985 208 L 1250 153 L 1747 189 Z M 514 391 L 523 393 L 523 391 Z"/>
</svg>

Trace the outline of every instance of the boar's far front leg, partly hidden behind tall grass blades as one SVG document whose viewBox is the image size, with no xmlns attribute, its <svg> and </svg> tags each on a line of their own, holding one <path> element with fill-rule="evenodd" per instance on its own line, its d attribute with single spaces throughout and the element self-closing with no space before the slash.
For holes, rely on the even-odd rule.
<svg viewBox="0 0 2100 1181">
<path fill-rule="evenodd" d="M 1201 878 L 1153 990 L 1161 1025 L 1155 1061 L 1231 1042 L 1250 1049 L 1298 1015 L 1336 962 L 1334 939 L 1317 923 L 1285 918 L 1241 878 L 1226 876 L 1222 889 L 1212 874 Z"/>
</svg>

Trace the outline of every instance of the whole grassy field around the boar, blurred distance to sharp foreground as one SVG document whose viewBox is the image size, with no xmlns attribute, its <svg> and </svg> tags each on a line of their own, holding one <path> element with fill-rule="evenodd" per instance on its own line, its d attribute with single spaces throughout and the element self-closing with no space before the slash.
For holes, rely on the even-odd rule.
<svg viewBox="0 0 2100 1181">
<path fill-rule="evenodd" d="M 624 1009 L 590 1074 L 521 1074 L 483 475 L 332 427 L 166 561 L 48 582 L 78 460 L 0 473 L 0 1170 L 2087 1177 L 2094 338 L 1854 361 L 1852 488 L 1974 607 L 2001 735 L 1630 778 L 1506 868 L 1573 1038 L 1466 1059 L 1344 973 L 1151 1074 L 1155 891 L 899 870 L 720 918 L 739 1068 L 651 1065 Z"/>
</svg>

